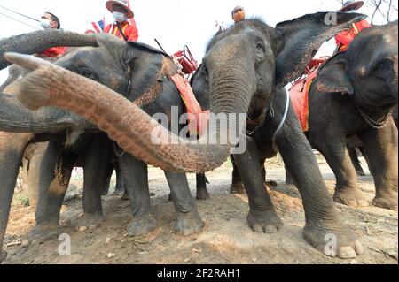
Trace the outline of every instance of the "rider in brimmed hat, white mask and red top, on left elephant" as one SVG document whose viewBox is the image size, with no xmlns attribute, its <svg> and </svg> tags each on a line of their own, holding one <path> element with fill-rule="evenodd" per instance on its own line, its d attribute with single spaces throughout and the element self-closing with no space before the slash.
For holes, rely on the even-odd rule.
<svg viewBox="0 0 399 282">
<path fill-rule="evenodd" d="M 129 7 L 128 0 L 112 0 L 106 2 L 106 9 L 113 13 L 113 24 L 104 28 L 104 32 L 119 37 L 124 42 L 137 42 L 138 30 L 135 14 Z"/>
</svg>

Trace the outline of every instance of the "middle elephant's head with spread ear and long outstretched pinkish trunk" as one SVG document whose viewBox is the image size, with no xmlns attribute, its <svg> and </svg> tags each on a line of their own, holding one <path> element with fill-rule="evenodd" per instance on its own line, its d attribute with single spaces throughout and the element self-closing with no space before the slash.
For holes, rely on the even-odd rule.
<svg viewBox="0 0 399 282">
<path fill-rule="evenodd" d="M 329 25 L 327 16 L 306 15 L 276 28 L 248 19 L 215 35 L 204 58 L 204 80 L 209 86 L 210 110 L 224 114 L 226 124 L 232 126 L 218 124 L 214 132 L 196 142 L 169 133 L 135 104 L 93 80 L 32 57 L 4 57 L 32 70 L 21 81 L 18 94 L 28 108 L 52 105 L 73 111 L 148 164 L 167 171 L 205 172 L 222 165 L 238 145 L 212 137 L 229 134 L 231 128 L 246 123 L 239 114 L 260 114 L 275 88 L 298 77 L 325 40 L 364 19 L 359 14 L 337 13 L 337 25 Z M 170 142 L 154 143 L 154 132 L 168 135 Z M 210 138 L 217 142 L 209 144 Z"/>
</svg>

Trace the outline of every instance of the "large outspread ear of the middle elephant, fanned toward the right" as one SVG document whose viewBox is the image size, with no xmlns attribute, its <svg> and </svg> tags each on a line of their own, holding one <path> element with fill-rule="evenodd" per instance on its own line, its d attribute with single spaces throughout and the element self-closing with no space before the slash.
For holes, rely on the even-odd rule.
<svg viewBox="0 0 399 282">
<path fill-rule="evenodd" d="M 317 12 L 279 23 L 275 27 L 276 83 L 296 80 L 320 46 L 366 16 L 345 12 Z"/>
</svg>

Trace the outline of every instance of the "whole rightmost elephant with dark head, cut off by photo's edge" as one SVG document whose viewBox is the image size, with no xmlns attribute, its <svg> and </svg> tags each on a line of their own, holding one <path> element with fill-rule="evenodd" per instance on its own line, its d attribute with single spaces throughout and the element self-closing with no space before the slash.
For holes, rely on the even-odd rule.
<svg viewBox="0 0 399 282">
<path fill-rule="evenodd" d="M 398 101 L 397 34 L 397 21 L 364 30 L 319 69 L 309 90 L 308 137 L 335 174 L 335 202 L 368 204 L 345 146 L 357 135 L 374 178 L 372 203 L 397 210 L 397 128 L 390 114 Z"/>
</svg>

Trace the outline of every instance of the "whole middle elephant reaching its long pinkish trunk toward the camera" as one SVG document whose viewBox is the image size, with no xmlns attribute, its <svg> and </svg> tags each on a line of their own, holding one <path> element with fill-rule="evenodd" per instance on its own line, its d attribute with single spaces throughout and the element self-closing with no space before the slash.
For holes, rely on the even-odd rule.
<svg viewBox="0 0 399 282">
<path fill-rule="evenodd" d="M 259 167 L 259 156 L 275 154 L 278 148 L 301 191 L 305 239 L 325 255 L 348 258 L 361 255 L 363 245 L 341 223 L 292 107 L 273 141 L 286 107 L 282 88 L 299 76 L 325 40 L 364 19 L 364 15 L 338 12 L 337 25 L 327 25 L 326 17 L 325 12 L 305 15 L 275 28 L 260 19 L 246 19 L 216 34 L 203 58 L 202 74 L 197 76 L 203 81 L 198 83 L 208 87 L 210 126 L 194 141 L 171 133 L 135 103 L 96 81 L 33 57 L 15 53 L 4 57 L 32 71 L 17 95 L 28 109 L 57 106 L 81 115 L 147 164 L 166 171 L 203 173 L 221 166 L 233 153 L 249 197 L 248 224 L 256 232 L 275 232 L 281 226 Z M 241 115 L 259 120 L 252 137 L 242 131 L 246 118 Z M 221 137 L 232 133 L 239 133 L 239 138 Z M 245 143 L 239 154 L 238 147 Z M 307 169 L 302 164 L 308 164 Z M 334 239 L 333 246 L 326 244 L 328 238 Z"/>
</svg>

